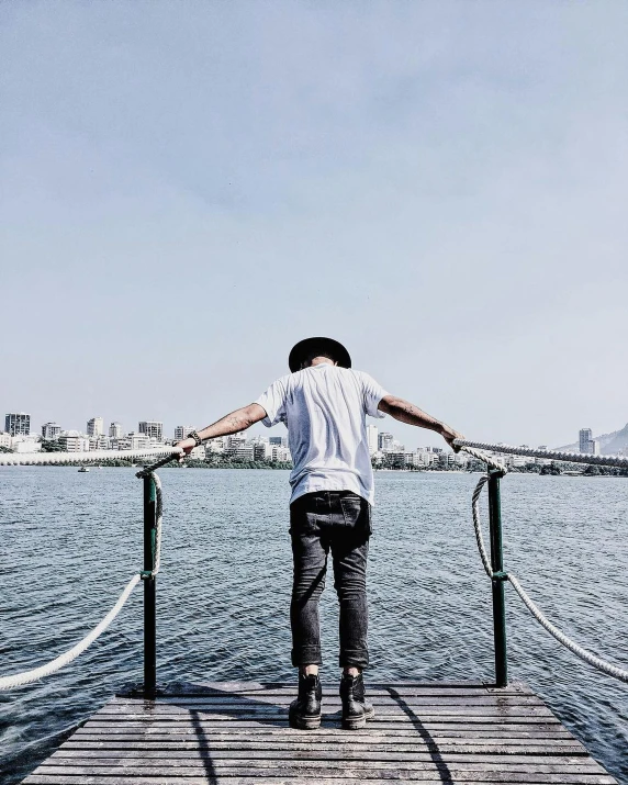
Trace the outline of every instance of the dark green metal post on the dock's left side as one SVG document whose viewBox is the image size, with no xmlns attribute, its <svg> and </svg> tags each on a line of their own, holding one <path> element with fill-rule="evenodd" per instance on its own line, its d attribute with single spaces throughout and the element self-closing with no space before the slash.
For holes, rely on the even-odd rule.
<svg viewBox="0 0 628 785">
<path fill-rule="evenodd" d="M 152 476 L 144 478 L 144 570 L 155 558 L 157 496 Z M 153 700 L 157 688 L 156 579 L 144 577 L 144 696 Z"/>
</svg>

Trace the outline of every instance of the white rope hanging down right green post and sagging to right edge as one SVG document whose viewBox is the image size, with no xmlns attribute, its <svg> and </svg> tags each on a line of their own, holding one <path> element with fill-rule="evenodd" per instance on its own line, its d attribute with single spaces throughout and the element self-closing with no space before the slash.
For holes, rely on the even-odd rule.
<svg viewBox="0 0 628 785">
<path fill-rule="evenodd" d="M 480 457 L 480 456 L 478 456 Z M 484 460 L 484 459 L 482 459 Z M 584 649 L 582 646 L 576 643 L 574 640 L 569 638 L 564 632 L 561 632 L 558 627 L 554 627 L 552 623 L 545 616 L 545 614 L 540 610 L 538 605 L 529 597 L 529 595 L 525 592 L 523 588 L 522 584 L 518 582 L 518 580 L 515 577 L 515 575 L 511 573 L 498 573 L 495 574 L 493 572 L 493 568 L 491 564 L 491 560 L 489 559 L 489 554 L 486 552 L 486 548 L 484 547 L 484 539 L 482 537 L 482 527 L 480 523 L 480 496 L 482 494 L 482 490 L 484 489 L 484 485 L 489 481 L 487 476 L 483 476 L 480 479 L 480 482 L 475 486 L 475 490 L 473 491 L 473 496 L 471 501 L 471 511 L 472 511 L 472 516 L 473 516 L 473 528 L 475 530 L 475 540 L 478 542 L 478 550 L 480 551 L 480 558 L 482 560 L 482 565 L 484 567 L 484 570 L 489 577 L 491 580 L 503 580 L 503 581 L 508 581 L 515 592 L 518 594 L 518 596 L 522 598 L 524 602 L 525 606 L 528 608 L 528 610 L 531 613 L 531 615 L 535 617 L 535 619 L 543 627 L 551 636 L 553 636 L 560 643 L 562 643 L 567 649 L 569 649 L 571 652 L 573 652 L 576 657 L 580 657 L 581 660 L 584 660 L 584 662 L 587 662 L 590 665 L 593 665 L 594 668 L 597 668 L 598 671 L 602 671 L 603 673 L 606 673 L 609 676 L 614 676 L 615 679 L 619 679 L 623 682 L 628 682 L 628 670 L 625 670 L 623 668 L 619 668 L 618 665 L 614 665 L 612 662 L 608 662 L 607 660 L 603 660 L 601 657 L 597 657 L 596 654 L 593 654 L 591 651 L 587 649 Z"/>
</svg>

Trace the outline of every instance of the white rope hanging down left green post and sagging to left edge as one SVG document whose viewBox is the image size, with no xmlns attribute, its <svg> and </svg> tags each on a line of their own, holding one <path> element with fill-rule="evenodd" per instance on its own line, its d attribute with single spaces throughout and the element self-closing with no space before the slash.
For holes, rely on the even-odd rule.
<svg viewBox="0 0 628 785">
<path fill-rule="evenodd" d="M 164 463 L 165 461 L 159 461 Z M 89 632 L 82 640 L 80 640 L 76 646 L 74 646 L 69 651 L 64 654 L 51 660 L 45 665 L 40 665 L 40 668 L 34 668 L 31 671 L 22 671 L 22 673 L 15 673 L 11 676 L 0 676 L 0 691 L 13 689 L 14 687 L 20 687 L 24 684 L 31 684 L 36 682 L 44 676 L 49 676 L 51 673 L 55 673 L 65 665 L 68 665 L 72 660 L 76 660 L 79 654 L 93 643 L 93 641 L 99 638 L 104 630 L 111 625 L 113 619 L 122 610 L 124 604 L 128 599 L 131 592 L 139 583 L 142 579 L 155 577 L 161 567 L 161 526 L 164 518 L 164 501 L 161 493 L 161 481 L 158 475 L 153 471 L 144 470 L 144 472 L 138 472 L 137 476 L 144 476 L 145 473 L 153 479 L 155 483 L 155 554 L 153 559 L 153 569 L 149 572 L 142 572 L 133 575 L 131 581 L 124 587 L 124 591 L 120 595 L 117 602 L 113 608 L 106 614 L 102 621 L 94 627 L 91 632 Z"/>
</svg>

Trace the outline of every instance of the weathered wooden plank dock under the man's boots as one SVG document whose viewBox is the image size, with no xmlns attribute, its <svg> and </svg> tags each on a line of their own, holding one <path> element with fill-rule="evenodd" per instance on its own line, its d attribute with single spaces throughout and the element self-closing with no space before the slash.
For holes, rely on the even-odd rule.
<svg viewBox="0 0 628 785">
<path fill-rule="evenodd" d="M 319 730 L 293 730 L 294 684 L 178 684 L 110 700 L 25 785 L 616 784 L 522 684 L 368 684 L 375 717 L 341 730 L 325 684 Z"/>
</svg>

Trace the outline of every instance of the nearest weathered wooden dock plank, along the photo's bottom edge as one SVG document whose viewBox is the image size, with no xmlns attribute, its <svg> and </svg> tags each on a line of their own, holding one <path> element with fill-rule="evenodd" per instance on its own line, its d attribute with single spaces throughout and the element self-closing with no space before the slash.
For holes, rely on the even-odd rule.
<svg viewBox="0 0 628 785">
<path fill-rule="evenodd" d="M 232 777 L 250 777 L 254 774 L 250 767 L 239 767 L 227 770 L 216 770 L 212 763 L 205 763 L 203 769 L 206 770 L 209 774 L 211 770 L 212 775 L 224 774 Z M 49 777 L 60 777 L 60 776 L 124 776 L 124 777 L 199 777 L 202 776 L 202 771 L 200 767 L 194 766 L 173 766 L 171 770 L 165 771 L 161 766 L 121 766 L 115 773 L 106 766 L 63 766 L 51 769 L 47 765 L 40 766 L 34 772 L 35 775 L 47 775 Z M 263 769 L 259 772 L 255 772 L 258 777 L 304 777 L 311 778 L 315 776 L 317 780 L 321 778 L 334 778 L 338 777 L 338 770 L 333 767 L 319 767 L 315 771 L 309 770 L 303 766 L 288 765 L 285 767 L 276 769 Z M 365 771 L 360 769 L 344 767 L 341 773 L 345 780 L 365 780 Z M 405 777 L 412 780 L 413 782 L 442 782 L 442 777 L 449 777 L 450 780 L 456 780 L 458 782 L 500 782 L 500 783 L 538 783 L 538 773 L 529 772 L 500 772 L 500 771 L 451 771 L 447 765 L 441 765 L 438 769 L 428 770 L 412 770 L 412 769 L 401 769 L 396 771 L 391 771 L 388 769 L 380 769 L 375 766 L 368 771 L 367 780 L 390 780 L 399 777 Z M 580 785 L 591 784 L 599 785 L 601 783 L 613 783 L 612 777 L 608 775 L 601 774 L 580 774 L 580 773 L 543 773 L 542 781 L 545 783 L 577 783 Z"/>
</svg>

